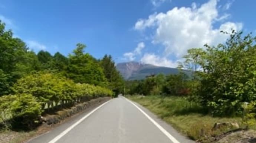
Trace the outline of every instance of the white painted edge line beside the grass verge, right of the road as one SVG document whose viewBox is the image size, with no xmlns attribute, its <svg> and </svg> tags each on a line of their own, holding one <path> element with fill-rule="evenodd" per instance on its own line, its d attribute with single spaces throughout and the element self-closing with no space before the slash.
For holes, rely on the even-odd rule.
<svg viewBox="0 0 256 143">
<path fill-rule="evenodd" d="M 144 114 L 155 126 L 157 126 L 158 129 L 160 129 L 164 135 L 166 135 L 173 143 L 180 143 L 177 139 L 175 139 L 167 130 L 165 130 L 161 125 L 159 125 L 157 122 L 154 121 L 147 113 L 145 113 L 140 107 L 138 107 L 136 104 L 134 104 L 132 101 L 128 100 L 124 97 L 125 100 L 129 101 L 132 105 L 134 105 L 137 109 L 139 109 L 142 114 Z"/>
</svg>

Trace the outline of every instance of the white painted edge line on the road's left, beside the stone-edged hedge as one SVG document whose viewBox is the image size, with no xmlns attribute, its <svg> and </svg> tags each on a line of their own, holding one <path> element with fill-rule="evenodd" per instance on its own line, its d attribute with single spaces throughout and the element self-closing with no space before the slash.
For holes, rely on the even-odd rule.
<svg viewBox="0 0 256 143">
<path fill-rule="evenodd" d="M 109 100 L 111 101 L 111 100 Z M 68 133 L 70 130 L 72 130 L 73 128 L 75 128 L 76 125 L 78 125 L 79 123 L 81 123 L 84 119 L 86 119 L 88 116 L 90 116 L 93 112 L 95 112 L 96 110 L 98 110 L 99 108 L 101 108 L 103 105 L 105 105 L 106 103 L 108 103 L 109 101 L 106 101 L 105 103 L 101 104 L 99 107 L 95 108 L 94 110 L 92 110 L 90 113 L 88 113 L 87 115 L 83 116 L 83 118 L 79 119 L 76 123 L 74 123 L 72 126 L 70 126 L 68 129 L 64 130 L 62 133 L 60 133 L 58 136 L 56 136 L 54 139 L 52 139 L 50 142 L 48 143 L 55 143 L 57 142 L 61 137 L 63 137 L 64 135 L 66 135 L 66 133 Z"/>
</svg>

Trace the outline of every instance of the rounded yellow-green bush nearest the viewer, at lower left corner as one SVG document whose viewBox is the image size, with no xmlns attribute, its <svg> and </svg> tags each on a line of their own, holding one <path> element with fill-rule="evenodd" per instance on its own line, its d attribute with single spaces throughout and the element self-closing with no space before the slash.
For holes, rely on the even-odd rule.
<svg viewBox="0 0 256 143">
<path fill-rule="evenodd" d="M 0 123 L 5 128 L 23 125 L 32 128 L 42 110 L 36 98 L 30 94 L 5 95 L 0 97 Z"/>
</svg>

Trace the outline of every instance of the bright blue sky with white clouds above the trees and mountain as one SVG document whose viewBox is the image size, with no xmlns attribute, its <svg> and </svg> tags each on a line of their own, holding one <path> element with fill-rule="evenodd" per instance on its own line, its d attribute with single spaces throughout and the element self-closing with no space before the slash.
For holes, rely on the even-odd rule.
<svg viewBox="0 0 256 143">
<path fill-rule="evenodd" d="M 256 32 L 248 0 L 0 0 L 0 19 L 35 52 L 68 55 L 76 43 L 96 58 L 111 54 L 175 67 L 187 49 L 224 42 L 220 30 Z"/>
</svg>

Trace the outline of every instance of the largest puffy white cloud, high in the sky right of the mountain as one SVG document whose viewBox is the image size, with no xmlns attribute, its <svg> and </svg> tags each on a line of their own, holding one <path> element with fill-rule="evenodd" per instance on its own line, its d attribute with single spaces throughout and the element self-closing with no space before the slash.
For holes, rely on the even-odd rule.
<svg viewBox="0 0 256 143">
<path fill-rule="evenodd" d="M 165 47 L 164 56 L 175 55 L 180 59 L 187 49 L 203 47 L 204 44 L 217 45 L 226 41 L 228 35 L 220 31 L 239 31 L 243 24 L 237 22 L 222 22 L 214 27 L 216 21 L 225 20 L 229 14 L 219 15 L 218 0 L 209 0 L 201 6 L 174 7 L 166 13 L 154 13 L 147 19 L 136 22 L 134 29 L 141 31 L 148 28 L 154 30 L 152 43 Z"/>
</svg>

